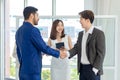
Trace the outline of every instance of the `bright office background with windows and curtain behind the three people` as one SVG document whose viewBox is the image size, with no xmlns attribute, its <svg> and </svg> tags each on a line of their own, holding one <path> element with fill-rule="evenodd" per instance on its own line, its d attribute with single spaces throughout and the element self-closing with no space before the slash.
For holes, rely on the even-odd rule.
<svg viewBox="0 0 120 80">
<path fill-rule="evenodd" d="M 78 13 L 89 9 L 95 14 L 93 25 L 104 31 L 106 55 L 104 74 L 101 80 L 120 80 L 120 0 L 0 0 L 0 80 L 18 80 L 18 68 L 13 57 L 15 32 L 23 23 L 22 11 L 26 6 L 39 10 L 39 24 L 45 42 L 49 38 L 52 21 L 61 19 L 66 34 L 73 44 L 82 29 Z M 43 57 L 42 80 L 50 80 L 51 57 Z M 76 57 L 71 60 L 71 80 L 79 80 L 76 71 Z"/>
</svg>

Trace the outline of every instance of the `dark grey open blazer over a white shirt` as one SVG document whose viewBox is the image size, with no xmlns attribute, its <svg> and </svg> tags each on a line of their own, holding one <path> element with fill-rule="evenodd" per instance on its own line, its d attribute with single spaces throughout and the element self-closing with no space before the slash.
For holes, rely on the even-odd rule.
<svg viewBox="0 0 120 80">
<path fill-rule="evenodd" d="M 69 59 L 77 54 L 78 73 L 80 71 L 81 62 L 82 36 L 83 31 L 79 32 L 76 44 L 69 50 Z M 92 34 L 89 34 L 86 42 L 86 53 L 90 64 L 99 70 L 98 74 L 103 74 L 103 60 L 105 56 L 105 35 L 103 31 L 94 28 Z"/>
</svg>

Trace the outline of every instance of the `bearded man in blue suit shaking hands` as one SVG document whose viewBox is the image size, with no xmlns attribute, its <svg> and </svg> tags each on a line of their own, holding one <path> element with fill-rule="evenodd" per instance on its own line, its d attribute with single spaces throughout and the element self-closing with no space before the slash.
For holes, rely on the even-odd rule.
<svg viewBox="0 0 120 80">
<path fill-rule="evenodd" d="M 15 35 L 20 63 L 19 80 L 41 80 L 41 52 L 57 58 L 67 56 L 65 51 L 54 50 L 43 41 L 39 29 L 34 27 L 39 21 L 37 11 L 38 9 L 32 6 L 24 9 L 24 22 Z"/>
</svg>

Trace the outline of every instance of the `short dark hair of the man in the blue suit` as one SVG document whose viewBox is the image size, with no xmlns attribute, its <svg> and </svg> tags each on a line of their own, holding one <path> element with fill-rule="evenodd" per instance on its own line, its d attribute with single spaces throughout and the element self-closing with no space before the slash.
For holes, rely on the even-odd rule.
<svg viewBox="0 0 120 80">
<path fill-rule="evenodd" d="M 25 7 L 23 11 L 24 19 L 27 20 L 31 13 L 35 14 L 37 11 L 38 9 L 35 7 L 32 7 L 32 6 Z"/>
</svg>

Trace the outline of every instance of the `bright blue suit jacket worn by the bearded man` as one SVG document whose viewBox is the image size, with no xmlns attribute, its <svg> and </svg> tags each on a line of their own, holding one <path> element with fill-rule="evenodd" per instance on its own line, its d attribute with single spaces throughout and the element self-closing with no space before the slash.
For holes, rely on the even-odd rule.
<svg viewBox="0 0 120 80">
<path fill-rule="evenodd" d="M 16 32 L 17 56 L 20 62 L 20 73 L 40 74 L 42 68 L 42 53 L 59 57 L 59 51 L 46 45 L 40 31 L 29 22 Z"/>
</svg>

